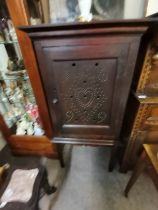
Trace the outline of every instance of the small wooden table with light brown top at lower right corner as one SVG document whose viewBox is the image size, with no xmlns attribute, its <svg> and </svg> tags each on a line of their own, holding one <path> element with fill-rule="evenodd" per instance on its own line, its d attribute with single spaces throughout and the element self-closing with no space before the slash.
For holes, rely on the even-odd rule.
<svg viewBox="0 0 158 210">
<path fill-rule="evenodd" d="M 155 187 L 158 190 L 158 145 L 157 144 L 144 144 L 143 152 L 140 159 L 137 162 L 136 168 L 133 171 L 133 174 L 126 186 L 125 196 L 128 196 L 128 193 L 131 187 L 136 182 L 139 175 L 144 169 L 147 169 Z"/>
</svg>

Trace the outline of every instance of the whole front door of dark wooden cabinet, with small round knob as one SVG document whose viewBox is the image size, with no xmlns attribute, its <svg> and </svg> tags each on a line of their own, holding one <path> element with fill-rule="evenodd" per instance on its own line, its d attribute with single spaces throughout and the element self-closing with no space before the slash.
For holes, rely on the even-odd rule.
<svg viewBox="0 0 158 210">
<path fill-rule="evenodd" d="M 35 41 L 54 140 L 107 144 L 118 138 L 138 39 L 81 37 Z"/>
</svg>

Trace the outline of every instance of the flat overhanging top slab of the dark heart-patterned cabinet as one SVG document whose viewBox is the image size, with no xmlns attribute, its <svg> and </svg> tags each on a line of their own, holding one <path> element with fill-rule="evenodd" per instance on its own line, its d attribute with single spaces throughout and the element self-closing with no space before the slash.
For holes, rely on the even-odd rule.
<svg viewBox="0 0 158 210">
<path fill-rule="evenodd" d="M 119 28 L 119 27 L 150 27 L 158 24 L 158 18 L 106 20 L 97 22 L 73 22 L 61 24 L 42 24 L 34 26 L 19 26 L 20 30 L 28 33 L 58 30 L 80 30 L 97 28 Z"/>
</svg>

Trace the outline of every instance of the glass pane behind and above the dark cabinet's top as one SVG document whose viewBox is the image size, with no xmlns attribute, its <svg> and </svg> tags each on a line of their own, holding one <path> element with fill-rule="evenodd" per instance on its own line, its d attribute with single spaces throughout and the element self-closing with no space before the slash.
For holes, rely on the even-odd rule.
<svg viewBox="0 0 158 210">
<path fill-rule="evenodd" d="M 143 18 L 151 14 L 151 0 L 27 0 L 30 22 L 64 23 Z M 149 7 L 149 8 L 148 8 Z M 155 11 L 154 11 L 155 12 Z"/>
</svg>

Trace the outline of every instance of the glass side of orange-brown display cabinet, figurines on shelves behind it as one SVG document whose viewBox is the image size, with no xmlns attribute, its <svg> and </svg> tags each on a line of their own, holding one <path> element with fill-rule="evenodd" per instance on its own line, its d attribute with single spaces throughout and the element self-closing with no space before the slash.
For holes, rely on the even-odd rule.
<svg viewBox="0 0 158 210">
<path fill-rule="evenodd" d="M 0 113 L 17 135 L 43 135 L 29 76 L 5 1 L 0 4 Z"/>
</svg>

